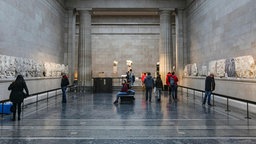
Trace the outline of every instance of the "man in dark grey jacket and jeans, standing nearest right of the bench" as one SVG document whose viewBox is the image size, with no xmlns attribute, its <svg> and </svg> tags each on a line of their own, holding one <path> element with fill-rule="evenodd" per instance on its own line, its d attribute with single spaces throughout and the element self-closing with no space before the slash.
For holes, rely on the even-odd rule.
<svg viewBox="0 0 256 144">
<path fill-rule="evenodd" d="M 146 102 L 149 99 L 149 102 L 151 102 L 152 97 L 152 89 L 154 88 L 154 79 L 151 76 L 151 73 L 149 72 L 147 77 L 144 80 L 144 84 L 146 87 Z"/>
</svg>

